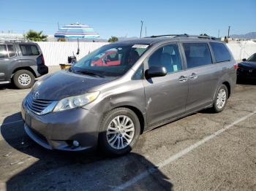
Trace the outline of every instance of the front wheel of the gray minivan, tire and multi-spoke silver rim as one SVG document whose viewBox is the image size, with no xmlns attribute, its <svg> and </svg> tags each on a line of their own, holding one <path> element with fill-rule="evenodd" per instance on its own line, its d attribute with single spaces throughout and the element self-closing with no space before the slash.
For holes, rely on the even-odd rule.
<svg viewBox="0 0 256 191">
<path fill-rule="evenodd" d="M 125 155 L 140 135 L 140 121 L 131 109 L 121 107 L 108 112 L 99 132 L 99 147 L 110 156 Z"/>
</svg>

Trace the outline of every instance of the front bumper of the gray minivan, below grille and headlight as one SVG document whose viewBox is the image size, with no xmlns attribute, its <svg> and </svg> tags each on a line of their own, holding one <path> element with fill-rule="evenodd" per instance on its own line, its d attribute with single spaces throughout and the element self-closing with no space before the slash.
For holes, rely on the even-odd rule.
<svg viewBox="0 0 256 191">
<path fill-rule="evenodd" d="M 99 116 L 82 108 L 37 115 L 21 106 L 28 136 L 46 149 L 80 151 L 95 149 L 99 134 Z M 78 141 L 75 147 L 72 142 Z"/>
</svg>

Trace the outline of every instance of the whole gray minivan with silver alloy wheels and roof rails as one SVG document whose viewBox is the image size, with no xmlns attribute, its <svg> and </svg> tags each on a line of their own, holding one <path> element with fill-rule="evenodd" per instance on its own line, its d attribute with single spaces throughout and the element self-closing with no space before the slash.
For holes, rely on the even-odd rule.
<svg viewBox="0 0 256 191">
<path fill-rule="evenodd" d="M 201 109 L 222 112 L 236 68 L 209 36 L 108 44 L 36 82 L 21 106 L 24 128 L 47 149 L 124 155 L 147 130 Z"/>
</svg>

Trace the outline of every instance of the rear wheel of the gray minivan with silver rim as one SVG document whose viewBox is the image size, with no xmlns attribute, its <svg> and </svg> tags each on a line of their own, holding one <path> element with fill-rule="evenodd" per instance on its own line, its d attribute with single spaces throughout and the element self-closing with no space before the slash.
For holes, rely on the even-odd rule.
<svg viewBox="0 0 256 191">
<path fill-rule="evenodd" d="M 228 90 L 225 85 L 219 86 L 217 94 L 214 99 L 214 106 L 212 110 L 216 113 L 222 112 L 227 104 Z"/>
</svg>

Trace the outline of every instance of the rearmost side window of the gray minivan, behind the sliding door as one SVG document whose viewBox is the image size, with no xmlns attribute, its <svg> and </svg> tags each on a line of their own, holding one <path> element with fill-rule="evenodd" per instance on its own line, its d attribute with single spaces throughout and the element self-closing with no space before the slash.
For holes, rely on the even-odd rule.
<svg viewBox="0 0 256 191">
<path fill-rule="evenodd" d="M 210 44 L 214 51 L 214 57 L 217 63 L 231 60 L 230 52 L 228 52 L 227 47 L 224 44 L 218 42 L 210 42 Z"/>
</svg>

